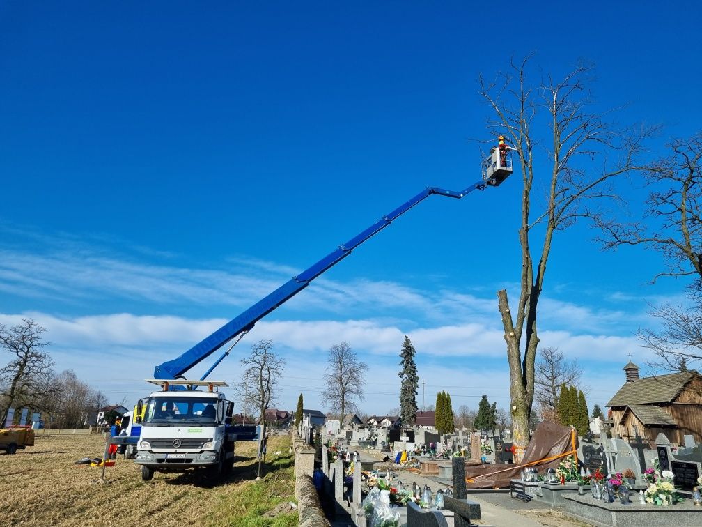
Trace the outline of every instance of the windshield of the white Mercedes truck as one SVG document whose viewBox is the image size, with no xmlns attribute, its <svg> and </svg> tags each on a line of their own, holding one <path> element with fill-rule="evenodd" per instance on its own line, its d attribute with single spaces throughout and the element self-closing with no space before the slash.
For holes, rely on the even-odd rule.
<svg viewBox="0 0 702 527">
<path fill-rule="evenodd" d="M 152 397 L 149 398 L 144 416 L 145 424 L 161 426 L 179 424 L 215 424 L 217 420 L 216 398 Z"/>
</svg>

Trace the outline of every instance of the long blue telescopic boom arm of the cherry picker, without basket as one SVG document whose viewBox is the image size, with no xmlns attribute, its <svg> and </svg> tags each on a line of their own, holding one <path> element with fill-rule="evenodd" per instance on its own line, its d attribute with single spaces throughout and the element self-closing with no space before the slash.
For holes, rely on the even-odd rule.
<svg viewBox="0 0 702 527">
<path fill-rule="evenodd" d="M 289 282 L 284 283 L 267 297 L 259 300 L 256 304 L 253 304 L 253 306 L 244 311 L 244 313 L 241 313 L 241 315 L 237 316 L 237 318 L 230 320 L 230 322 L 220 327 L 209 337 L 206 337 L 206 339 L 203 341 L 192 346 L 191 349 L 183 353 L 183 355 L 180 357 L 169 360 L 168 362 L 157 366 L 154 370 L 154 377 L 156 379 L 176 379 L 178 377 L 182 377 L 187 370 L 190 370 L 190 368 L 197 365 L 201 360 L 204 360 L 204 358 L 210 356 L 224 344 L 227 344 L 227 342 L 230 340 L 236 337 L 243 337 L 246 332 L 251 330 L 253 325 L 256 324 L 258 320 L 265 317 L 265 315 L 273 311 L 275 308 L 294 297 L 300 291 L 305 289 L 307 285 L 310 285 L 310 282 L 312 282 L 314 278 L 317 278 L 317 276 L 324 273 L 324 271 L 336 265 L 336 263 L 339 263 L 346 256 L 351 254 L 353 249 L 371 238 L 371 236 L 379 233 L 380 230 L 383 230 L 385 227 L 390 225 L 394 219 L 409 211 L 409 209 L 425 200 L 425 198 L 429 197 L 430 195 L 455 197 L 460 200 L 461 197 L 471 193 L 473 190 L 484 190 L 486 186 L 488 186 L 488 183 L 481 179 L 460 192 L 445 190 L 437 187 L 425 188 L 425 190 L 422 190 L 422 192 L 413 197 L 411 200 L 400 205 L 397 207 L 397 209 L 390 212 L 390 214 L 383 216 L 369 228 L 366 228 L 366 230 L 364 230 L 362 233 L 359 233 L 354 238 L 351 238 L 345 244 L 340 245 L 336 251 L 324 256 L 324 258 L 319 260 L 317 263 L 314 263 L 314 265 L 312 265 L 310 268 L 306 269 L 299 275 L 294 276 L 291 278 L 291 280 L 289 280 Z M 216 363 L 214 363 L 212 367 L 207 370 L 205 375 L 202 376 L 202 379 L 205 379 L 205 377 L 210 374 L 210 372 L 223 360 L 223 358 L 227 356 L 230 349 L 227 349 L 227 351 L 225 351 L 225 353 L 216 361 Z"/>
</svg>

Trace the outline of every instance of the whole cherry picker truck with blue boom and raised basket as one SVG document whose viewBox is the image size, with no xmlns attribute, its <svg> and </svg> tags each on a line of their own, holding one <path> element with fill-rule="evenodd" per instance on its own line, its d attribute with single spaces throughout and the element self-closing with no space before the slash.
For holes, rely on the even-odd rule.
<svg viewBox="0 0 702 527">
<path fill-rule="evenodd" d="M 256 427 L 232 425 L 234 404 L 217 391 L 226 384 L 205 380 L 230 353 L 232 347 L 253 329 L 258 320 L 305 289 L 314 278 L 343 260 L 353 249 L 427 197 L 438 195 L 460 200 L 473 190 L 499 186 L 512 174 L 510 153 L 507 152 L 505 160 L 505 152 L 501 153 L 498 149 L 491 151 L 484 160 L 482 178 L 463 190 L 425 188 L 192 346 L 183 355 L 157 365 L 154 379 L 148 379 L 147 382 L 161 386 L 161 391 L 139 401 L 131 416 L 129 439 L 136 443 L 135 462 L 142 467 L 142 479 L 149 481 L 154 476 L 154 471 L 197 468 L 210 469 L 214 474 L 229 471 L 234 463 L 234 442 L 254 441 L 258 438 Z M 183 377 L 188 370 L 232 339 L 236 339 L 234 344 L 227 348 L 199 381 L 189 381 Z M 197 390 L 204 386 L 207 387 L 206 391 Z"/>
</svg>

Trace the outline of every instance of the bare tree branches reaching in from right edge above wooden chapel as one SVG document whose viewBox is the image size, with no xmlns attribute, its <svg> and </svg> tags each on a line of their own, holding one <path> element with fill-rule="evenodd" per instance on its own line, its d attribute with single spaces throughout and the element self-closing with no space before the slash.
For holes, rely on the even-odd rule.
<svg viewBox="0 0 702 527">
<path fill-rule="evenodd" d="M 651 308 L 660 330 L 640 330 L 644 346 L 657 360 L 651 367 L 684 370 L 702 362 L 702 132 L 668 145 L 670 154 L 646 174 L 649 195 L 640 221 L 599 218 L 604 247 L 642 245 L 663 255 L 666 269 L 653 278 L 691 277 L 691 304 Z"/>
</svg>

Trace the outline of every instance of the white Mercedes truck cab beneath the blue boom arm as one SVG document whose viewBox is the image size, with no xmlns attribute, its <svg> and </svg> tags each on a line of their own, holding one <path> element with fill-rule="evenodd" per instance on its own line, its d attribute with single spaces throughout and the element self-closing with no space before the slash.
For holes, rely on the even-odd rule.
<svg viewBox="0 0 702 527">
<path fill-rule="evenodd" d="M 159 384 L 162 391 L 152 393 L 145 403 L 135 456 L 142 479 L 149 481 L 157 471 L 207 468 L 216 476 L 230 471 L 234 441 L 241 430 L 230 424 L 233 403 L 215 391 L 227 384 L 158 379 L 147 382 Z M 180 389 L 173 389 L 176 386 Z M 207 386 L 207 390 L 197 390 L 198 386 Z"/>
</svg>

